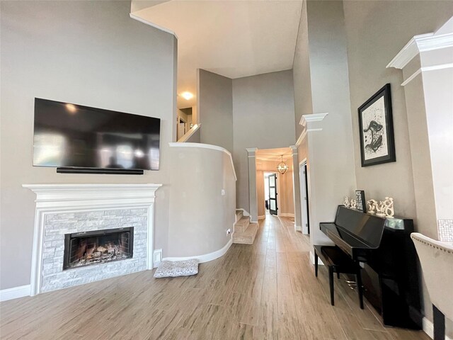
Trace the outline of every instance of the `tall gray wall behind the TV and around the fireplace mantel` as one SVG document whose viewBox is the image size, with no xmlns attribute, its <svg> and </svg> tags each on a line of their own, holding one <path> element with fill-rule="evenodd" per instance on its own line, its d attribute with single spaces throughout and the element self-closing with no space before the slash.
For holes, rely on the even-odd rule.
<svg viewBox="0 0 453 340">
<path fill-rule="evenodd" d="M 23 183 L 164 183 L 154 247 L 166 251 L 176 40 L 129 13 L 130 1 L 1 1 L 1 289 L 30 283 L 35 195 Z M 160 170 L 118 176 L 33 167 L 35 97 L 161 118 Z"/>
</svg>

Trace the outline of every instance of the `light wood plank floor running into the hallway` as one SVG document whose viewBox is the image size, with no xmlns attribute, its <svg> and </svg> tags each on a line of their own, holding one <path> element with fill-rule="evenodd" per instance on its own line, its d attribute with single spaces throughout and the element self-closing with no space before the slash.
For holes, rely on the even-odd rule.
<svg viewBox="0 0 453 340">
<path fill-rule="evenodd" d="M 309 239 L 287 218 L 260 221 L 253 245 L 233 244 L 197 276 L 151 271 L 0 304 L 1 339 L 429 339 L 382 326 L 355 291 L 309 262 Z"/>
</svg>

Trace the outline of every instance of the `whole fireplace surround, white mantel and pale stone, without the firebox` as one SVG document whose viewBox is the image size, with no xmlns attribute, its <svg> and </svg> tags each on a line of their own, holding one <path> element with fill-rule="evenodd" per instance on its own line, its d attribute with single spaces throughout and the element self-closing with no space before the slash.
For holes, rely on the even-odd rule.
<svg viewBox="0 0 453 340">
<path fill-rule="evenodd" d="M 161 184 L 30 184 L 36 193 L 30 295 L 153 268 Z M 64 234 L 134 227 L 130 259 L 63 270 Z"/>
</svg>

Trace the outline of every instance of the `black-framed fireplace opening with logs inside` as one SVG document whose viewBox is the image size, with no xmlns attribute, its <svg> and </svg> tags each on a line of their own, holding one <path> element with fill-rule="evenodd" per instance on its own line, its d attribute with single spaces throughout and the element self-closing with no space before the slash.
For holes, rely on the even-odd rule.
<svg viewBox="0 0 453 340">
<path fill-rule="evenodd" d="M 134 227 L 64 235 L 63 270 L 132 257 Z"/>
</svg>

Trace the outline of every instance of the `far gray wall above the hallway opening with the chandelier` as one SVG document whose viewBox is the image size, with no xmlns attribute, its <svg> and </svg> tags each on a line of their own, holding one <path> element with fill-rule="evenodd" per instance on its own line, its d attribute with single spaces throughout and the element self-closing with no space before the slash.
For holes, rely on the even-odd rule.
<svg viewBox="0 0 453 340">
<path fill-rule="evenodd" d="M 233 118 L 236 208 L 249 211 L 246 148 L 274 149 L 295 142 L 292 71 L 233 79 Z"/>
</svg>

